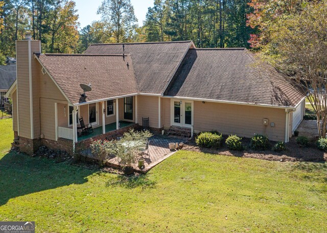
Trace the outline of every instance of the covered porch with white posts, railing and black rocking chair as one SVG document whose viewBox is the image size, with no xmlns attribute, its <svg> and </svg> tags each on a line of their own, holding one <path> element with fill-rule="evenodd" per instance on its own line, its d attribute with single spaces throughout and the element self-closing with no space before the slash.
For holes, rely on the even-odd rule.
<svg viewBox="0 0 327 233">
<path fill-rule="evenodd" d="M 55 103 L 56 139 L 65 138 L 74 144 L 109 132 L 118 131 L 137 123 L 137 96 L 108 99 L 77 106 L 68 103 Z M 81 120 L 86 127 L 85 132 Z"/>
</svg>

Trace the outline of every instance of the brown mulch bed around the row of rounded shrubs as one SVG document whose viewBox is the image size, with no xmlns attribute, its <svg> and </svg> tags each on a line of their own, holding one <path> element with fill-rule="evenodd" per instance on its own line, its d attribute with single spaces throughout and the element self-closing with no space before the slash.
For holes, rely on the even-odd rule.
<svg viewBox="0 0 327 233">
<path fill-rule="evenodd" d="M 224 141 L 227 137 L 224 137 Z M 254 158 L 270 161 L 306 161 L 306 162 L 324 162 L 327 161 L 327 153 L 317 149 L 315 147 L 314 141 L 310 143 L 308 147 L 300 147 L 296 143 L 296 138 L 291 138 L 288 143 L 286 143 L 286 151 L 275 152 L 271 149 L 264 151 L 255 151 L 249 148 L 250 139 L 243 138 L 242 143 L 246 146 L 243 151 L 229 150 L 225 144 L 220 149 L 214 148 L 202 148 L 196 145 L 195 140 L 192 139 L 188 141 L 183 146 L 183 150 L 223 154 L 225 156 L 235 156 L 244 158 Z M 271 147 L 276 142 L 270 142 Z"/>
</svg>

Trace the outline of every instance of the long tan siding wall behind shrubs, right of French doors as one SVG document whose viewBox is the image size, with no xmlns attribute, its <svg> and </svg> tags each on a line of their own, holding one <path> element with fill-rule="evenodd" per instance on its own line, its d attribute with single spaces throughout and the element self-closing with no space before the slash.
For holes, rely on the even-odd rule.
<svg viewBox="0 0 327 233">
<path fill-rule="evenodd" d="M 284 141 L 284 109 L 194 101 L 195 131 L 217 130 L 227 135 L 252 137 L 254 134 L 263 134 L 263 118 L 269 119 L 266 128 L 269 139 Z M 275 123 L 275 127 L 270 127 L 271 122 Z"/>
</svg>

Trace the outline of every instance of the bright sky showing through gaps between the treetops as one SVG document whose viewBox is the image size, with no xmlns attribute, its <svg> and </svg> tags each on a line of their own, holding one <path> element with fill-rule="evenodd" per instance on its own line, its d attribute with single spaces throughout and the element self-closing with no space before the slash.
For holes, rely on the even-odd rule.
<svg viewBox="0 0 327 233">
<path fill-rule="evenodd" d="M 97 11 L 102 0 L 75 0 L 75 2 L 81 28 L 84 28 L 94 20 L 100 19 L 100 15 L 97 15 Z M 131 3 L 134 6 L 136 18 L 138 19 L 138 25 L 143 24 L 148 8 L 153 7 L 153 2 L 154 0 L 131 0 Z"/>
</svg>

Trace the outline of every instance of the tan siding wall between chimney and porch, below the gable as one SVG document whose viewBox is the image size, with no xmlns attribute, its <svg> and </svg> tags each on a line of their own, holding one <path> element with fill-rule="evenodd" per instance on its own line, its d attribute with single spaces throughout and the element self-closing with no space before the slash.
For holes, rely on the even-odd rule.
<svg viewBox="0 0 327 233">
<path fill-rule="evenodd" d="M 41 134 L 45 139 L 56 140 L 55 100 L 40 98 Z"/>
</svg>

